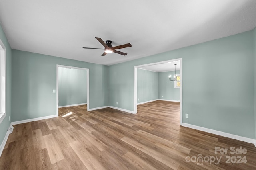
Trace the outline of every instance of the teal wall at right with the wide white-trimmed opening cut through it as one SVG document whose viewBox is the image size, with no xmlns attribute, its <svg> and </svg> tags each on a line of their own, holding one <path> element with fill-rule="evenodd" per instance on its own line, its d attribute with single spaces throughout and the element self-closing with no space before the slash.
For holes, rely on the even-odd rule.
<svg viewBox="0 0 256 170">
<path fill-rule="evenodd" d="M 109 105 L 134 111 L 134 66 L 182 58 L 183 122 L 255 139 L 253 50 L 253 31 L 246 31 L 114 64 Z"/>
</svg>

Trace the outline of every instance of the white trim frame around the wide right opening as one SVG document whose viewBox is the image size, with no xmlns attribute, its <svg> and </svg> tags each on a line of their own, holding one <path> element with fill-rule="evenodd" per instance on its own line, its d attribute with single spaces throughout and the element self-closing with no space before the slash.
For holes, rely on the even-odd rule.
<svg viewBox="0 0 256 170">
<path fill-rule="evenodd" d="M 180 61 L 180 125 L 182 125 L 182 58 L 179 59 L 172 59 L 168 61 L 161 61 L 157 63 L 150 63 L 150 64 L 144 64 L 139 66 L 134 66 L 134 113 L 137 113 L 137 69 L 146 67 L 146 66 L 154 66 L 158 64 L 167 64 L 167 63 L 174 63 L 176 61 Z M 168 78 L 168 77 L 167 77 Z"/>
</svg>

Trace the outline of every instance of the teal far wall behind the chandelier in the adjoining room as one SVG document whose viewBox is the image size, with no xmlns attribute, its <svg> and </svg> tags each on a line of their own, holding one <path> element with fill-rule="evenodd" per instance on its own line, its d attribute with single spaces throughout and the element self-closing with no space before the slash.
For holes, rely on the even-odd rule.
<svg viewBox="0 0 256 170">
<path fill-rule="evenodd" d="M 180 100 L 180 88 L 174 88 L 174 81 L 169 81 L 169 76 L 173 78 L 174 74 L 174 71 L 158 73 L 158 99 Z M 176 71 L 176 74 L 180 74 L 180 71 Z"/>
</svg>

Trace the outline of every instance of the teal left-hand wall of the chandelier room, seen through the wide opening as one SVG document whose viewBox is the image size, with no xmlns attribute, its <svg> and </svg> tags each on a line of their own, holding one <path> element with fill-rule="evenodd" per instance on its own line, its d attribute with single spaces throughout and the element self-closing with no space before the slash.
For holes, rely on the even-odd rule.
<svg viewBox="0 0 256 170">
<path fill-rule="evenodd" d="M 158 73 L 138 68 L 137 103 L 156 99 L 158 99 Z"/>
</svg>

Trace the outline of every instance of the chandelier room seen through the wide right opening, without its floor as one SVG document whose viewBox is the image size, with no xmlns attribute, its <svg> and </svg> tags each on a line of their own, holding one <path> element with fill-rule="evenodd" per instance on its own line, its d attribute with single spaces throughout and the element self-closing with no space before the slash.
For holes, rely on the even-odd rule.
<svg viewBox="0 0 256 170">
<path fill-rule="evenodd" d="M 134 66 L 134 110 L 156 100 L 182 102 L 182 59 Z M 182 104 L 180 104 L 182 106 Z M 182 108 L 180 107 L 180 120 Z M 182 125 L 182 121 L 180 121 Z"/>
</svg>

